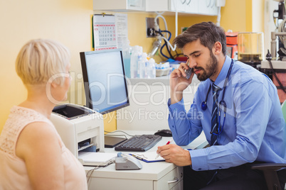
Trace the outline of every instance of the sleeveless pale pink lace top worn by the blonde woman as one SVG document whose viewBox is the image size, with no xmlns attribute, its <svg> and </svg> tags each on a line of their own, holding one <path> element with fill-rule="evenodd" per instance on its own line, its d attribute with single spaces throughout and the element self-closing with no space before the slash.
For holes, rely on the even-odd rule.
<svg viewBox="0 0 286 190">
<path fill-rule="evenodd" d="M 25 162 L 16 156 L 18 136 L 26 125 L 45 122 L 55 130 L 53 123 L 32 109 L 14 106 L 0 135 L 0 189 L 32 189 Z M 64 163 L 65 189 L 88 189 L 82 164 L 65 147 L 55 130 Z"/>
</svg>

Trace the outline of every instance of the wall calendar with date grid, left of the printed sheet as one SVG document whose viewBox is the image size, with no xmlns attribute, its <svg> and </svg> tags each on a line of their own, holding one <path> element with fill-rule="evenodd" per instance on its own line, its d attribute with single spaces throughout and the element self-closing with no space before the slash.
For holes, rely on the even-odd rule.
<svg viewBox="0 0 286 190">
<path fill-rule="evenodd" d="M 93 15 L 93 39 L 95 50 L 117 49 L 114 15 Z"/>
</svg>

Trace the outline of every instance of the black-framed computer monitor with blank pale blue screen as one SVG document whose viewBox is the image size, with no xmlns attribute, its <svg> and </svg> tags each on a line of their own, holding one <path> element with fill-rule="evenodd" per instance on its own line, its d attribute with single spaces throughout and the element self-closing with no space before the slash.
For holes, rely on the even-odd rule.
<svg viewBox="0 0 286 190">
<path fill-rule="evenodd" d="M 121 50 L 80 52 L 86 106 L 105 114 L 129 106 Z"/>
</svg>

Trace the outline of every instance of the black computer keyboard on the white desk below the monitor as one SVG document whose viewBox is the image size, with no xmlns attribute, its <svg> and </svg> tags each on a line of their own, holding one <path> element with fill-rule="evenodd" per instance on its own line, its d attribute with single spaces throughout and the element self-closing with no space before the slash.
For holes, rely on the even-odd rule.
<svg viewBox="0 0 286 190">
<path fill-rule="evenodd" d="M 145 152 L 162 139 L 159 135 L 135 135 L 115 147 L 116 151 Z"/>
</svg>

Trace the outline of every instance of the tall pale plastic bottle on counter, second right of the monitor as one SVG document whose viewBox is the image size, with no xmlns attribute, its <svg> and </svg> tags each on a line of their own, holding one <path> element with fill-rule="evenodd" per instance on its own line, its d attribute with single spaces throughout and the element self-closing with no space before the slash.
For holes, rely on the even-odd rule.
<svg viewBox="0 0 286 190">
<path fill-rule="evenodd" d="M 137 78 L 138 74 L 138 62 L 142 59 L 142 47 L 135 45 L 132 48 L 132 54 L 130 57 L 130 76 L 131 78 Z"/>
</svg>

